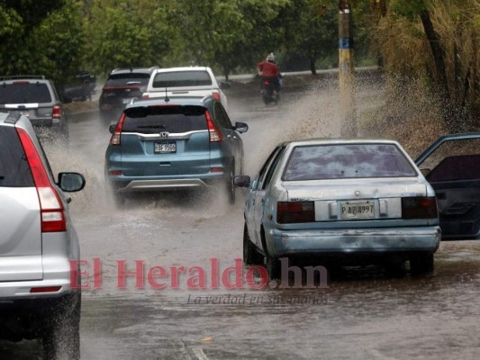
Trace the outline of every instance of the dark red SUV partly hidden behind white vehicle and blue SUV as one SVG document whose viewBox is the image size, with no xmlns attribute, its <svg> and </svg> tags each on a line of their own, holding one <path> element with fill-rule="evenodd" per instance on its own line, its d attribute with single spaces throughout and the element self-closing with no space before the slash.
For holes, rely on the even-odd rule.
<svg viewBox="0 0 480 360">
<path fill-rule="evenodd" d="M 98 100 L 100 118 L 116 122 L 131 99 L 141 97 L 150 75 L 157 67 L 115 68 L 107 77 Z"/>
</svg>

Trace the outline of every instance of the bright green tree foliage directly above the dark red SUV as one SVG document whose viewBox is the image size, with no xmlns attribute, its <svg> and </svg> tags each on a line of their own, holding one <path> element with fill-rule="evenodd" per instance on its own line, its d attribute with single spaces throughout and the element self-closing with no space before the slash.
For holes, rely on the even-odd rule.
<svg viewBox="0 0 480 360">
<path fill-rule="evenodd" d="M 99 73 L 159 65 L 169 49 L 167 11 L 158 2 L 94 0 L 86 9 L 86 62 Z"/>
</svg>

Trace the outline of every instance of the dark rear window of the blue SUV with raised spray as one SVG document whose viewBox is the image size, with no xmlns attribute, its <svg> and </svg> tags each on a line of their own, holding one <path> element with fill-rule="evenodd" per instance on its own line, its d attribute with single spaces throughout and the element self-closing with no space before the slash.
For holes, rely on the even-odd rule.
<svg viewBox="0 0 480 360">
<path fill-rule="evenodd" d="M 202 106 L 149 106 L 125 111 L 122 132 L 158 134 L 207 130 Z"/>
</svg>

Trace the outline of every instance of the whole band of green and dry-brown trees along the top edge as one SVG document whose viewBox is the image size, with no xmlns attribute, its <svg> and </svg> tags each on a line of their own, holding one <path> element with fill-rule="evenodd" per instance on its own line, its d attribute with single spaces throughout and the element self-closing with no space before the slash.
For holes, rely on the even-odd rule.
<svg viewBox="0 0 480 360">
<path fill-rule="evenodd" d="M 480 0 L 349 0 L 357 64 L 435 78 L 441 47 L 451 98 L 480 98 Z M 0 74 L 64 84 L 79 69 L 204 65 L 228 76 L 275 52 L 303 68 L 336 66 L 339 1 L 0 0 Z M 434 31 L 426 37 L 424 23 Z M 431 37 L 438 36 L 439 41 Z M 437 57 L 438 58 L 438 57 Z M 281 63 L 281 61 L 280 61 Z M 442 76 L 437 76 L 437 81 Z"/>
</svg>

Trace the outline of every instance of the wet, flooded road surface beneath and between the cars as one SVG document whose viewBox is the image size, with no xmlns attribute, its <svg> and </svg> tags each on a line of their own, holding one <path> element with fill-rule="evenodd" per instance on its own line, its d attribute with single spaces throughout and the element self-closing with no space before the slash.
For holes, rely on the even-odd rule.
<svg viewBox="0 0 480 360">
<path fill-rule="evenodd" d="M 338 135 L 335 94 L 311 93 L 267 108 L 259 96 L 231 98 L 231 120 L 249 123 L 247 175 L 283 139 Z M 378 97 L 361 96 L 366 103 Z M 326 289 L 252 289 L 249 269 L 238 266 L 241 193 L 234 206 L 212 193 L 168 193 L 129 199 L 117 210 L 103 183 L 110 134 L 96 116 L 75 115 L 70 150 L 49 154 L 55 172 L 87 178 L 71 203 L 86 261 L 82 359 L 480 356 L 480 242 L 443 242 L 433 275 L 392 277 L 366 266 L 334 272 Z M 0 343 L 5 359 L 40 358 L 39 348 Z"/>
</svg>

